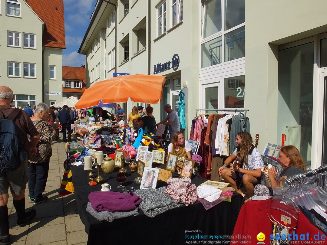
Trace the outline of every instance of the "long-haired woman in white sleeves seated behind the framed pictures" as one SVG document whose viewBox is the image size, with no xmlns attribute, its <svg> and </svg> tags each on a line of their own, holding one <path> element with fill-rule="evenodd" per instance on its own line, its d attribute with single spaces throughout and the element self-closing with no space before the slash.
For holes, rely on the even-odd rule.
<svg viewBox="0 0 327 245">
<path fill-rule="evenodd" d="M 191 146 L 187 141 L 184 140 L 184 136 L 181 132 L 175 132 L 171 143 L 168 145 L 169 153 L 179 154 L 180 157 L 192 158 Z"/>
</svg>

